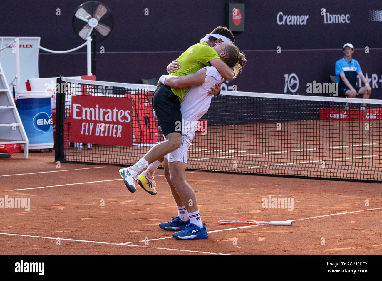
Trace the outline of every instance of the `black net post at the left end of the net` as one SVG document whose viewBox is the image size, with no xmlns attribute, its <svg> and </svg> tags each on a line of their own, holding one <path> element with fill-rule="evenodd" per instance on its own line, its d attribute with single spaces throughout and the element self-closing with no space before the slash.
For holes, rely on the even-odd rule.
<svg viewBox="0 0 382 281">
<path fill-rule="evenodd" d="M 61 77 L 57 77 L 56 83 L 56 139 L 55 147 L 55 161 L 64 161 L 64 131 L 65 131 L 65 93 L 66 84 L 62 81 Z"/>
</svg>

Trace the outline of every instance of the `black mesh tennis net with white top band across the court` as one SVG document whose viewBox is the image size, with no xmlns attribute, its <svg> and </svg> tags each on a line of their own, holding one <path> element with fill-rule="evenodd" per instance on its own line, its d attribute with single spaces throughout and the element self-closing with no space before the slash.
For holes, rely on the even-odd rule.
<svg viewBox="0 0 382 281">
<path fill-rule="evenodd" d="M 130 166 L 163 140 L 155 86 L 60 78 L 56 161 Z M 132 145 L 71 141 L 73 96 L 132 100 Z M 222 91 L 197 124 L 188 169 L 382 181 L 382 100 Z"/>
</svg>

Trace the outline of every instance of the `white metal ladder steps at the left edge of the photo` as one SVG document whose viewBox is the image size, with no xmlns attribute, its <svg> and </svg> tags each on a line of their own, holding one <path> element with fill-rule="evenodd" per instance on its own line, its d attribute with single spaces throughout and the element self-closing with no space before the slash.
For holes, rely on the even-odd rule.
<svg viewBox="0 0 382 281">
<path fill-rule="evenodd" d="M 28 137 L 0 64 L 0 145 L 15 143 L 24 144 L 24 158 L 28 159 Z"/>
</svg>

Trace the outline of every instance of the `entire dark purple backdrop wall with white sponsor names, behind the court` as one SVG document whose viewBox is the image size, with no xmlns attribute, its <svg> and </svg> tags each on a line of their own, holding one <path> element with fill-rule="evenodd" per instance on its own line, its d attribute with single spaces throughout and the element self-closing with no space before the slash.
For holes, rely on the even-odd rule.
<svg viewBox="0 0 382 281">
<path fill-rule="evenodd" d="M 72 49 L 81 41 L 71 28 L 74 10 L 86 0 L 3 1 L 1 36 L 40 36 L 53 50 Z M 97 79 L 140 83 L 159 78 L 169 62 L 213 28 L 225 24 L 228 0 L 101 0 L 114 16 L 114 28 L 97 55 Z M 248 65 L 233 85 L 240 91 L 307 94 L 306 84 L 329 82 L 342 45 L 351 42 L 356 58 L 382 99 L 382 1 L 234 0 L 245 3 L 245 31 L 236 44 Z M 38 5 L 37 5 L 38 4 Z M 60 8 L 58 16 L 56 9 Z M 145 13 L 148 9 L 148 15 Z M 12 15 L 22 19 L 15 22 Z M 278 48 L 279 47 L 279 48 Z M 369 54 L 365 48 L 369 48 Z M 276 50 L 281 50 L 277 54 Z M 86 73 L 85 50 L 72 54 L 40 52 L 40 77 Z M 314 94 L 314 93 L 312 93 Z M 316 93 L 318 94 L 318 93 Z"/>
</svg>

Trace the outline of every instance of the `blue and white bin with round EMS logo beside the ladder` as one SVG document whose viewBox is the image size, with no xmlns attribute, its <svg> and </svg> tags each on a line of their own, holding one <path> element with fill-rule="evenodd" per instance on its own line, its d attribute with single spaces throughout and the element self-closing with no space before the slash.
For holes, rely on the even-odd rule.
<svg viewBox="0 0 382 281">
<path fill-rule="evenodd" d="M 53 148 L 53 120 L 50 94 L 19 92 L 17 109 L 29 140 L 29 149 Z"/>
</svg>

